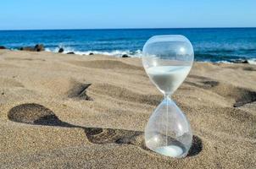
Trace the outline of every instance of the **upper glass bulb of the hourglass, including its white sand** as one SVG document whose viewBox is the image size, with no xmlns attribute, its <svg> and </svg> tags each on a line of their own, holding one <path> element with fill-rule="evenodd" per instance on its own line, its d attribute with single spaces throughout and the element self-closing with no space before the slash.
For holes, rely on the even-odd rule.
<svg viewBox="0 0 256 169">
<path fill-rule="evenodd" d="M 194 52 L 183 35 L 156 35 L 142 52 L 142 63 L 153 84 L 164 94 L 172 94 L 186 79 Z"/>
</svg>

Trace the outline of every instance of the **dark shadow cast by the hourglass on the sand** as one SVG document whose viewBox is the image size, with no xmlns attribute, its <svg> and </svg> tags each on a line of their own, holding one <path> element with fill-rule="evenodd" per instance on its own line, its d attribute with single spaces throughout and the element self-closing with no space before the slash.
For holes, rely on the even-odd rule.
<svg viewBox="0 0 256 169">
<path fill-rule="evenodd" d="M 36 103 L 14 106 L 8 112 L 8 119 L 16 123 L 82 128 L 85 130 L 87 139 L 92 144 L 132 144 L 143 150 L 148 150 L 144 143 L 143 132 L 141 131 L 114 128 L 86 128 L 65 123 L 58 119 L 53 111 Z M 198 155 L 201 150 L 203 150 L 202 140 L 199 139 L 198 136 L 194 136 L 192 148 L 188 156 Z M 151 150 L 148 151 L 152 152 Z"/>
</svg>

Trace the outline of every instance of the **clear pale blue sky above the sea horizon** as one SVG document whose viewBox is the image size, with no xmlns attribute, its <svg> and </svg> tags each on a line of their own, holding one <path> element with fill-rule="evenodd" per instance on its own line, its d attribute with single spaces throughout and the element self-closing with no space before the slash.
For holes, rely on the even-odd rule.
<svg viewBox="0 0 256 169">
<path fill-rule="evenodd" d="M 5 0 L 0 30 L 256 27 L 256 0 Z"/>
</svg>

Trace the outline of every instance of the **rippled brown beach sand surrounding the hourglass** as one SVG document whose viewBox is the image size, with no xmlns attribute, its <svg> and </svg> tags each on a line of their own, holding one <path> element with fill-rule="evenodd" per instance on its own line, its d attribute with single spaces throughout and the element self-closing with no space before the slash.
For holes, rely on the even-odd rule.
<svg viewBox="0 0 256 169">
<path fill-rule="evenodd" d="M 1 168 L 255 168 L 256 66 L 194 63 L 173 100 L 186 158 L 145 148 L 163 96 L 139 58 L 0 50 Z"/>
</svg>

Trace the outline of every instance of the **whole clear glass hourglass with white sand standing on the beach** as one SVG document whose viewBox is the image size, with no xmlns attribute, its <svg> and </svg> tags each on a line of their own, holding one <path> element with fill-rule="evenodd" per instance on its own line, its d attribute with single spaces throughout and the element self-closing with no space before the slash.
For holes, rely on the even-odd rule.
<svg viewBox="0 0 256 169">
<path fill-rule="evenodd" d="M 149 79 L 164 94 L 145 128 L 148 149 L 181 158 L 192 145 L 192 130 L 186 116 L 170 99 L 192 68 L 192 44 L 183 35 L 155 35 L 143 47 L 142 63 Z"/>
</svg>

